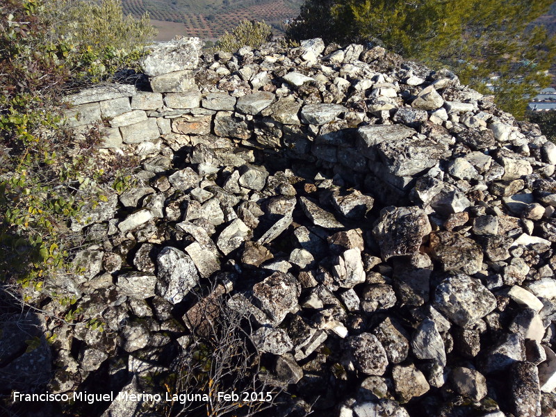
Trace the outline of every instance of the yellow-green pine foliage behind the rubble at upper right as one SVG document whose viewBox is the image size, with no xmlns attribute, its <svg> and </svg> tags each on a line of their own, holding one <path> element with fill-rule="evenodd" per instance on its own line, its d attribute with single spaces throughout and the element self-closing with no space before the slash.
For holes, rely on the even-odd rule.
<svg viewBox="0 0 556 417">
<path fill-rule="evenodd" d="M 375 42 L 431 67 L 449 67 L 464 83 L 495 94 L 501 108 L 522 117 L 527 96 L 550 82 L 546 70 L 556 56 L 556 42 L 543 27 L 528 25 L 551 3 L 306 0 L 288 35 Z"/>
</svg>

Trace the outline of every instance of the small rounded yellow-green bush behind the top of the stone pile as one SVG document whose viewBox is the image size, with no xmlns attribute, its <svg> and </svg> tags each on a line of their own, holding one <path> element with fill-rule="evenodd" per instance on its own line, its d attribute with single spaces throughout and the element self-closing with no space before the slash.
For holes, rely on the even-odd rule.
<svg viewBox="0 0 556 417">
<path fill-rule="evenodd" d="M 272 40 L 272 28 L 265 22 L 250 22 L 243 20 L 232 29 L 226 31 L 216 42 L 215 49 L 224 52 L 235 52 L 241 47 L 249 46 L 258 48 Z"/>
</svg>

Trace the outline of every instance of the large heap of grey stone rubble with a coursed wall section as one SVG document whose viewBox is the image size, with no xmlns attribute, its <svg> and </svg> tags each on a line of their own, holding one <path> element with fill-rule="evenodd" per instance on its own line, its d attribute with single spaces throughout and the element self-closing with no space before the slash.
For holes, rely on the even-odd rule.
<svg viewBox="0 0 556 417">
<path fill-rule="evenodd" d="M 101 154 L 142 162 L 72 221 L 84 272 L 45 284 L 117 332 L 54 329 L 51 391 L 145 377 L 218 281 L 291 415 L 556 416 L 556 145 L 536 125 L 381 47 L 154 49 L 152 91 L 68 97 L 76 131 L 109 124 Z"/>
</svg>

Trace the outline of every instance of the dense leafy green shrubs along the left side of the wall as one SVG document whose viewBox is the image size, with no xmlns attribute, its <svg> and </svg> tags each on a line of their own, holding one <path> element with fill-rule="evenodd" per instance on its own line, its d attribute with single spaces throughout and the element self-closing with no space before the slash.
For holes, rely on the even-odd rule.
<svg viewBox="0 0 556 417">
<path fill-rule="evenodd" d="M 70 268 L 78 242 L 67 220 L 82 196 L 106 198 L 99 184 L 125 177 L 126 161 L 93 154 L 102 126 L 64 129 L 61 97 L 136 65 L 154 31 L 117 0 L 3 0 L 0 19 L 0 276 L 40 297 L 46 277 Z"/>
</svg>

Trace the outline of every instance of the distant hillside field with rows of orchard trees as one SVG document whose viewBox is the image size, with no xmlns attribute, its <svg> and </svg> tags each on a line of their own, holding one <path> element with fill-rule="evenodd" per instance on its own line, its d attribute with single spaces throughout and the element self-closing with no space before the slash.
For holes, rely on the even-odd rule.
<svg viewBox="0 0 556 417">
<path fill-rule="evenodd" d="M 219 38 L 244 19 L 265 21 L 281 35 L 284 21 L 299 14 L 301 0 L 122 0 L 124 13 L 149 12 L 158 40 L 173 35 Z"/>
</svg>

